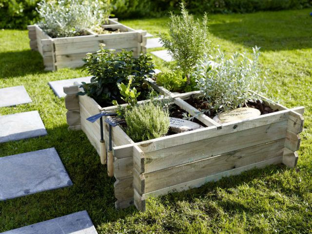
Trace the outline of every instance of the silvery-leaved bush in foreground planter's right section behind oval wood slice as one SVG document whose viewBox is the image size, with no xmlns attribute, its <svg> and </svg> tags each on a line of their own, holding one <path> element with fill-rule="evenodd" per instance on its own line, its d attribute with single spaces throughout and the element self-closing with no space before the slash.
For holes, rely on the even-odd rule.
<svg viewBox="0 0 312 234">
<path fill-rule="evenodd" d="M 257 93 L 264 88 L 258 58 L 258 47 L 253 48 L 252 58 L 237 52 L 226 59 L 219 48 L 215 57 L 203 59 L 194 73 L 197 88 L 205 103 L 216 112 L 241 107 L 248 101 L 259 100 Z"/>
</svg>

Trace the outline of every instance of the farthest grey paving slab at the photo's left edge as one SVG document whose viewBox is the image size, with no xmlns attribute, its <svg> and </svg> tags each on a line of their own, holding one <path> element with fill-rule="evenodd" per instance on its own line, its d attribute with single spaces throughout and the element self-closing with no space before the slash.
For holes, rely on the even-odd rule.
<svg viewBox="0 0 312 234">
<path fill-rule="evenodd" d="M 0 89 L 0 107 L 16 106 L 31 102 L 23 85 Z"/>
</svg>

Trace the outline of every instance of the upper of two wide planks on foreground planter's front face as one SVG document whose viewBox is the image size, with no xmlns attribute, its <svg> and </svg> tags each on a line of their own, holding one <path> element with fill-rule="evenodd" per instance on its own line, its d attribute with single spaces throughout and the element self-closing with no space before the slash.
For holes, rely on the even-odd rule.
<svg viewBox="0 0 312 234">
<path fill-rule="evenodd" d="M 287 121 L 145 153 L 145 173 L 285 138 Z"/>
</svg>

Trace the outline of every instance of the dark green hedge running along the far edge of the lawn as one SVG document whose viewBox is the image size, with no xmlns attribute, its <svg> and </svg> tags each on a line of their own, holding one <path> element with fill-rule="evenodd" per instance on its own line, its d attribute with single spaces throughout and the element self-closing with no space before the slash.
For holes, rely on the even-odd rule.
<svg viewBox="0 0 312 234">
<path fill-rule="evenodd" d="M 0 0 L 0 28 L 26 28 L 38 20 L 39 0 Z M 119 19 L 158 17 L 179 12 L 180 0 L 112 0 Z M 193 14 L 247 13 L 312 7 L 312 0 L 183 0 Z"/>
</svg>

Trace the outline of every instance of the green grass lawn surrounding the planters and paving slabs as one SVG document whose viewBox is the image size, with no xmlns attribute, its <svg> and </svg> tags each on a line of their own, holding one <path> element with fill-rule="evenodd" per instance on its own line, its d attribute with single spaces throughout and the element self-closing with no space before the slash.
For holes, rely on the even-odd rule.
<svg viewBox="0 0 312 234">
<path fill-rule="evenodd" d="M 87 210 L 107 233 L 311 233 L 312 230 L 312 9 L 211 15 L 214 45 L 228 52 L 262 49 L 266 95 L 287 107 L 305 106 L 297 169 L 270 166 L 198 189 L 147 200 L 147 211 L 114 207 L 114 179 L 82 131 L 67 130 L 64 99 L 48 81 L 78 78 L 81 69 L 43 71 L 27 31 L 0 31 L 0 88 L 24 85 L 33 102 L 0 108 L 0 115 L 38 110 L 48 135 L 0 144 L 0 156 L 55 147 L 74 185 L 0 202 L 0 232 Z M 168 18 L 124 20 L 156 36 Z M 157 68 L 162 63 L 156 59 Z M 0 126 L 1 127 L 1 126 Z M 237 139 L 239 140 L 239 139 Z"/>
</svg>

